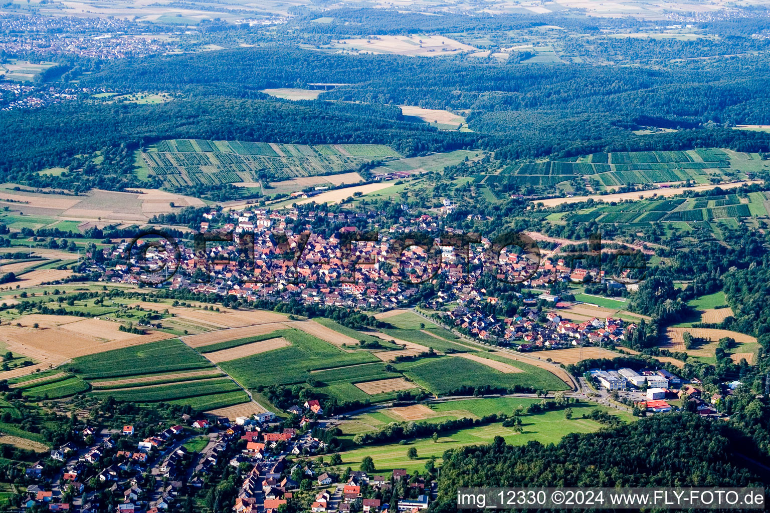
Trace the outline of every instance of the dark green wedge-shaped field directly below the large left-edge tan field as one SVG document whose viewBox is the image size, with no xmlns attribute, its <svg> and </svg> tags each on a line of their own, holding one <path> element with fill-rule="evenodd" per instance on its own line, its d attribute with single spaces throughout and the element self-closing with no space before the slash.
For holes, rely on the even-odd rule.
<svg viewBox="0 0 770 513">
<path fill-rule="evenodd" d="M 211 363 L 177 338 L 81 356 L 67 365 L 67 368 L 85 379 L 206 367 L 211 367 Z"/>
</svg>

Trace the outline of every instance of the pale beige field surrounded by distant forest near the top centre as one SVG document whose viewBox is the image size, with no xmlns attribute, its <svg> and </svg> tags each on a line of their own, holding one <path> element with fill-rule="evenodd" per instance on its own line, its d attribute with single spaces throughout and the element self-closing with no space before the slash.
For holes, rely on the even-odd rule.
<svg viewBox="0 0 770 513">
<path fill-rule="evenodd" d="M 396 55 L 447 55 L 477 49 L 442 35 L 372 35 L 370 38 L 343 39 L 333 47 Z"/>
</svg>

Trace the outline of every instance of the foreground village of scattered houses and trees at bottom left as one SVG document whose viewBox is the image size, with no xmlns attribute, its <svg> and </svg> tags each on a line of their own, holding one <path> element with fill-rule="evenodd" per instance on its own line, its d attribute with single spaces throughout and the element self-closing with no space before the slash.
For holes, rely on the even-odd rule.
<svg viewBox="0 0 770 513">
<path fill-rule="evenodd" d="M 209 478 L 240 475 L 232 510 L 236 513 L 276 513 L 297 491 L 313 501 L 310 509 L 387 513 L 393 487 L 403 490 L 392 511 L 427 508 L 437 495 L 436 482 L 410 476 L 403 469 L 392 475 L 366 471 L 336 473 L 323 458 L 305 459 L 325 452 L 320 401 L 310 399 L 290 411 L 297 428 L 272 412 L 228 418 L 182 415 L 182 424 L 162 428 L 147 437 L 132 425 L 121 429 L 85 425 L 69 441 L 50 451 L 25 470 L 28 482 L 22 501 L 26 508 L 47 511 L 104 511 L 105 497 L 115 513 L 159 513 L 183 507 Z M 199 451 L 186 448 L 203 440 Z M 294 461 L 296 460 L 296 461 Z M 398 485 L 400 483 L 400 485 Z M 105 495 L 107 494 L 107 495 Z"/>
</svg>

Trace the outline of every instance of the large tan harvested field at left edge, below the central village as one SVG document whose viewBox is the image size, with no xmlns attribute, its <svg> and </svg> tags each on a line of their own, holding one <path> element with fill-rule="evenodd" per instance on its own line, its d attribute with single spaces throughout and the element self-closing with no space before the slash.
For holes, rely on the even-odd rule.
<svg viewBox="0 0 770 513">
<path fill-rule="evenodd" d="M 32 314 L 25 315 L 18 321 L 22 322 L 22 327 L 5 326 L 0 330 L 0 340 L 4 341 L 11 351 L 35 358 L 46 366 L 62 364 L 75 356 L 92 355 L 174 337 L 161 331 L 134 335 L 119 331 L 121 324 L 118 322 L 72 315 Z M 39 323 L 38 329 L 32 328 L 35 322 Z M 28 374 L 32 368 L 23 370 L 17 375 Z"/>
</svg>

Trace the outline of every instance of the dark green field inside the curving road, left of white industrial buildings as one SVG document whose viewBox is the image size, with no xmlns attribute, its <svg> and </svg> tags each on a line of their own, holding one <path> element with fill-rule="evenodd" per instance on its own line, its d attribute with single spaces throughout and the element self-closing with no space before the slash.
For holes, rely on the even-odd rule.
<svg viewBox="0 0 770 513">
<path fill-rule="evenodd" d="M 500 388 L 514 388 L 515 385 L 521 385 L 538 390 L 567 388 L 564 381 L 545 369 L 520 361 L 516 361 L 515 366 L 524 372 L 504 373 L 466 358 L 444 356 L 397 364 L 396 368 L 437 395 L 447 394 L 464 385 L 472 387 L 490 385 Z"/>
</svg>

